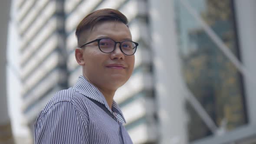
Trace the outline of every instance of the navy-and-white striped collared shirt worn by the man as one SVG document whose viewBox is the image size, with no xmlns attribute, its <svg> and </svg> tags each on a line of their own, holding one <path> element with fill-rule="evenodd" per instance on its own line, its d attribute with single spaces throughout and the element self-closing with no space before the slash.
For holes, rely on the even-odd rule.
<svg viewBox="0 0 256 144">
<path fill-rule="evenodd" d="M 85 77 L 57 92 L 39 113 L 35 144 L 132 144 L 118 104 L 109 108 L 102 93 Z"/>
</svg>

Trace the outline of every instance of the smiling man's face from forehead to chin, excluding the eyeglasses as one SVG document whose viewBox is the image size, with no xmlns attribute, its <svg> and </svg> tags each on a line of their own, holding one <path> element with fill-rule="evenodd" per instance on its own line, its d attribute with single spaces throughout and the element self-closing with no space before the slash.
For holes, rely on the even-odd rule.
<svg viewBox="0 0 256 144">
<path fill-rule="evenodd" d="M 121 42 L 131 40 L 131 33 L 124 23 L 102 22 L 96 24 L 91 32 L 82 33 L 79 44 L 100 38 L 110 38 Z M 123 54 L 119 49 L 119 43 L 115 51 L 103 53 L 98 48 L 98 43 L 94 42 L 86 45 L 82 49 L 82 54 L 83 75 L 98 88 L 116 90 L 128 81 L 134 69 L 135 56 Z"/>
</svg>

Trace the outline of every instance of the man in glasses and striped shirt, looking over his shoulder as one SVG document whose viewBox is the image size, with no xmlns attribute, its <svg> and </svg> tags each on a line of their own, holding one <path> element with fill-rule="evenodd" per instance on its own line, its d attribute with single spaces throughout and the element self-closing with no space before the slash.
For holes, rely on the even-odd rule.
<svg viewBox="0 0 256 144">
<path fill-rule="evenodd" d="M 132 144 L 113 100 L 134 69 L 138 43 L 131 41 L 127 23 L 112 9 L 97 10 L 79 23 L 75 59 L 82 75 L 39 113 L 36 144 Z"/>
</svg>

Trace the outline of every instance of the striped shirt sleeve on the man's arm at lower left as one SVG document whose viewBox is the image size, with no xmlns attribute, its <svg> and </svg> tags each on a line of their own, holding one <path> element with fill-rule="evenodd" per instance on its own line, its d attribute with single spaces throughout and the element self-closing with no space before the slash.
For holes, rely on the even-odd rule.
<svg viewBox="0 0 256 144">
<path fill-rule="evenodd" d="M 87 124 L 72 103 L 59 102 L 39 114 L 35 123 L 35 144 L 87 143 Z"/>
</svg>

